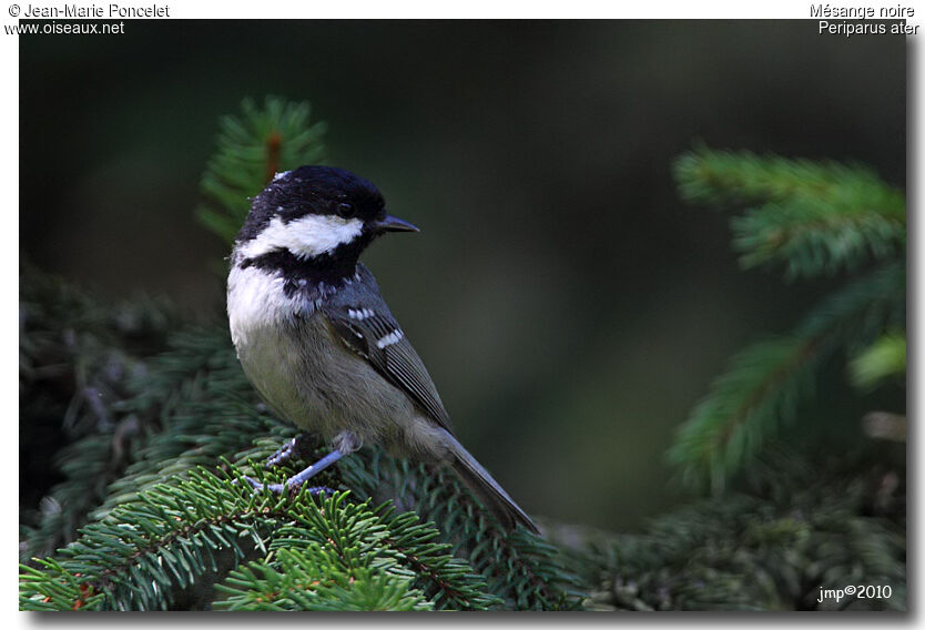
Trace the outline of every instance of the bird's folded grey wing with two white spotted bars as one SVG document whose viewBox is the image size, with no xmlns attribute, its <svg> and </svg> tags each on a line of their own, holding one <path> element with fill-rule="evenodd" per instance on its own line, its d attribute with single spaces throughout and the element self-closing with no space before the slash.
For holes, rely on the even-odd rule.
<svg viewBox="0 0 925 630">
<path fill-rule="evenodd" d="M 373 275 L 360 268 L 355 291 L 338 294 L 321 305 L 344 344 L 369 362 L 389 383 L 401 389 L 440 427 L 453 433 L 437 387 L 398 322 L 382 298 Z"/>
</svg>

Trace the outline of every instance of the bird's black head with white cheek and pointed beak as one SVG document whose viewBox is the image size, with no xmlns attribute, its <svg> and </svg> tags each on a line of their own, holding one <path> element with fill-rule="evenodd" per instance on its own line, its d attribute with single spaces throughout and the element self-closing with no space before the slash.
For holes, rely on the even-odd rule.
<svg viewBox="0 0 925 630">
<path fill-rule="evenodd" d="M 236 263 L 318 282 L 353 275 L 359 254 L 385 232 L 417 227 L 386 214 L 378 189 L 332 166 L 277 174 L 253 200 L 235 240 Z"/>
</svg>

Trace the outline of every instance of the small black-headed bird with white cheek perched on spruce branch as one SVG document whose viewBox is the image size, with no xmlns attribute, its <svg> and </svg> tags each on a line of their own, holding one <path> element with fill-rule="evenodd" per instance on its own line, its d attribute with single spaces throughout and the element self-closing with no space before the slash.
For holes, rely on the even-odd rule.
<svg viewBox="0 0 925 630">
<path fill-rule="evenodd" d="M 369 181 L 306 165 L 276 173 L 253 197 L 227 278 L 231 337 L 247 379 L 278 417 L 332 450 L 283 492 L 365 444 L 449 467 L 506 530 L 532 519 L 454 435 L 449 414 L 359 256 L 377 237 L 419 230 L 386 212 Z M 270 460 L 299 455 L 294 438 Z"/>
</svg>

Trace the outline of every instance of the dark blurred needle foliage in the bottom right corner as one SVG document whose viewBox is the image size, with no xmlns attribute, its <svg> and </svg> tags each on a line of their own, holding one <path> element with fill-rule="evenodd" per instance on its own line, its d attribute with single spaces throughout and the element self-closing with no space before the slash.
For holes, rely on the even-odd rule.
<svg viewBox="0 0 925 630">
<path fill-rule="evenodd" d="M 570 556 L 599 585 L 589 606 L 905 610 L 905 495 L 892 481 L 905 474 L 840 458 L 819 467 L 779 453 L 752 469 L 748 492 L 661 516 L 644 534 L 582 537 Z M 821 589 L 848 585 L 890 586 L 892 595 L 819 601 Z"/>
</svg>

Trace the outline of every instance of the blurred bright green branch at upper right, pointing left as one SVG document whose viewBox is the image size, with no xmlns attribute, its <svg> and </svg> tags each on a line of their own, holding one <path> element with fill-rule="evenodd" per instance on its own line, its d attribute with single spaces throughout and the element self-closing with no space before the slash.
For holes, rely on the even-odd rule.
<svg viewBox="0 0 925 630">
<path fill-rule="evenodd" d="M 814 276 L 905 251 L 905 195 L 860 165 L 701 146 L 677 161 L 675 177 L 689 201 L 760 204 L 732 220 L 745 268 Z"/>
</svg>

